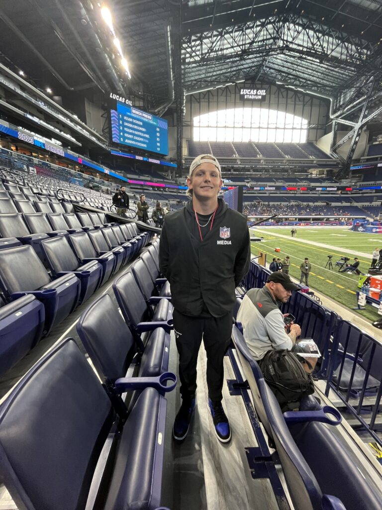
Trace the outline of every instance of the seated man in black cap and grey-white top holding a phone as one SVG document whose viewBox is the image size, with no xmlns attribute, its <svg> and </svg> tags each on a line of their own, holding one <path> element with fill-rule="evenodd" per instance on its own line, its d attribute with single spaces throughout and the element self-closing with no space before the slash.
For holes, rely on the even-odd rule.
<svg viewBox="0 0 382 510">
<path fill-rule="evenodd" d="M 284 316 L 279 306 L 286 303 L 292 291 L 299 290 L 290 277 L 283 272 L 275 272 L 268 276 L 262 289 L 250 289 L 243 297 L 237 321 L 243 326 L 243 335 L 253 358 L 259 362 L 271 349 L 291 350 L 296 338 L 301 335 L 298 324 L 284 324 Z M 286 314 L 288 315 L 288 314 Z M 311 373 L 317 358 L 307 358 L 304 363 L 306 372 Z M 310 365 L 310 366 L 309 366 Z"/>
</svg>

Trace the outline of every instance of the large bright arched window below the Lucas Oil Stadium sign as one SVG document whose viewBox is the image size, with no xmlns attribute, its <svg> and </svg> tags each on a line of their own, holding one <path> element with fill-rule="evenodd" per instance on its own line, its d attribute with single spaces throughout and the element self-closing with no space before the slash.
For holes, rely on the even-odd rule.
<svg viewBox="0 0 382 510">
<path fill-rule="evenodd" d="M 194 117 L 194 140 L 210 142 L 306 142 L 308 120 L 266 108 L 231 108 Z"/>
</svg>

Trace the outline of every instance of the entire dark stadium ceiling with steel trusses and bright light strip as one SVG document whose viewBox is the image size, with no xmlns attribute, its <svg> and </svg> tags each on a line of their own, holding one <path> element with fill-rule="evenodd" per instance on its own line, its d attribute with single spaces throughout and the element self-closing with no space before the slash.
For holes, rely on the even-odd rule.
<svg viewBox="0 0 382 510">
<path fill-rule="evenodd" d="M 336 156 L 338 123 L 356 140 L 382 118 L 382 0 L 2 2 L 0 62 L 64 106 L 117 92 L 178 120 L 187 93 L 243 81 L 304 90 L 332 100 Z"/>
</svg>

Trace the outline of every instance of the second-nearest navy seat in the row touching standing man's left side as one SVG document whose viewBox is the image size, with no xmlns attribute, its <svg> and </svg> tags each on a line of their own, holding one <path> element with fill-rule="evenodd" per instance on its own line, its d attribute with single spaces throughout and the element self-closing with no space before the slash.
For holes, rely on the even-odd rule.
<svg viewBox="0 0 382 510">
<path fill-rule="evenodd" d="M 156 327 L 144 346 L 142 341 L 133 338 L 108 294 L 99 297 L 81 315 L 77 333 L 98 375 L 112 392 L 120 377 L 155 377 L 168 370 L 170 334 Z M 129 395 L 129 410 L 139 394 L 137 391 Z"/>
</svg>

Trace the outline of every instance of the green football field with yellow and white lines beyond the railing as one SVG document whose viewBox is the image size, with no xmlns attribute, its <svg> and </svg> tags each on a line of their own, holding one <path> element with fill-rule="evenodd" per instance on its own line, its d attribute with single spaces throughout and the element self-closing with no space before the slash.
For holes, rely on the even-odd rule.
<svg viewBox="0 0 382 510">
<path fill-rule="evenodd" d="M 259 250 L 265 252 L 267 263 L 271 262 L 273 257 L 283 259 L 289 255 L 291 261 L 289 274 L 298 279 L 301 274 L 299 265 L 305 257 L 308 257 L 312 265 L 309 286 L 351 309 L 357 305 L 356 290 L 359 276 L 353 273 L 339 273 L 335 263 L 343 256 L 349 257 L 351 262 L 357 255 L 350 253 L 349 250 L 358 251 L 363 253 L 358 255 L 359 269 L 367 273 L 371 264 L 371 253 L 376 247 L 382 248 L 382 236 L 379 238 L 375 234 L 351 232 L 348 228 L 297 226 L 297 236 L 291 238 L 291 227 L 255 227 L 251 229 L 251 233 L 263 237 L 264 240 L 252 243 L 252 253 L 257 255 Z M 275 252 L 276 247 L 281 249 L 280 254 Z M 325 268 L 328 255 L 333 255 L 333 270 Z M 354 313 L 361 314 L 371 321 L 380 318 L 377 309 L 371 305 L 366 305 L 365 310 Z"/>
</svg>

